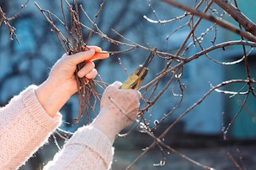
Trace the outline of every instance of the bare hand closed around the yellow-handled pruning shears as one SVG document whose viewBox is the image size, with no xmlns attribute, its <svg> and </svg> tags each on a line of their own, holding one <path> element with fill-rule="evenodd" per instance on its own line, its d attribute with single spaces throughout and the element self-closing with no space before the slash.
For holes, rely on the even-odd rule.
<svg viewBox="0 0 256 170">
<path fill-rule="evenodd" d="M 95 126 L 114 142 L 115 136 L 136 120 L 140 107 L 141 93 L 137 90 L 121 90 L 120 82 L 109 85 L 100 101 L 99 116 L 91 126 Z"/>
</svg>

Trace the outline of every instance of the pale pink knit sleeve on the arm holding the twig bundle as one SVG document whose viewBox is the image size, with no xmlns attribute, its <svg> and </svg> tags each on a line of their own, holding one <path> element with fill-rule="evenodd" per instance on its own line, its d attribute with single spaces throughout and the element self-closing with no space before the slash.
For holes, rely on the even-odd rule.
<svg viewBox="0 0 256 170">
<path fill-rule="evenodd" d="M 48 116 L 31 85 L 0 108 L 0 169 L 17 169 L 61 123 Z"/>
</svg>

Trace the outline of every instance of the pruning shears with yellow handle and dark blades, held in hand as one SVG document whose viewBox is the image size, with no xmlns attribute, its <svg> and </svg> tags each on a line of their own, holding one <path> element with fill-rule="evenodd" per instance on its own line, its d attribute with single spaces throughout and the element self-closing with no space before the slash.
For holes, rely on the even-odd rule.
<svg viewBox="0 0 256 170">
<path fill-rule="evenodd" d="M 120 89 L 133 89 L 136 90 L 145 79 L 148 72 L 148 64 L 152 61 L 152 58 L 156 54 L 157 48 L 154 48 L 152 52 L 147 57 L 146 61 L 143 64 L 140 64 L 136 70 L 125 80 L 123 85 L 120 86 Z"/>
</svg>

